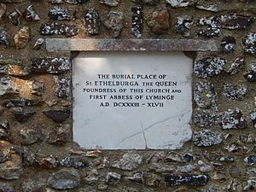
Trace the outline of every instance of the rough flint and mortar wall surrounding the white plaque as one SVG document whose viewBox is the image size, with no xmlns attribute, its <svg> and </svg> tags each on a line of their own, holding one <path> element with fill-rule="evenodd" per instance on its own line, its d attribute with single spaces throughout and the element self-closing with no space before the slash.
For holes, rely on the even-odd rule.
<svg viewBox="0 0 256 192">
<path fill-rule="evenodd" d="M 0 191 L 255 191 L 255 14 L 253 0 L 0 0 Z M 191 140 L 175 151 L 80 150 L 71 50 L 86 48 L 60 52 L 55 38 L 193 51 Z M 184 39 L 211 44 L 195 51 Z"/>
</svg>

